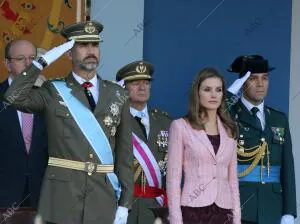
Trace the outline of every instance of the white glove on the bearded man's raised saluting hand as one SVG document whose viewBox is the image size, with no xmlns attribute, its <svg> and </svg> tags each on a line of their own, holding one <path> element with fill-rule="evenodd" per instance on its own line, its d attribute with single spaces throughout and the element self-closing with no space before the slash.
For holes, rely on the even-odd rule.
<svg viewBox="0 0 300 224">
<path fill-rule="evenodd" d="M 48 51 L 41 57 L 44 59 L 47 65 L 50 65 L 52 62 L 56 61 L 60 56 L 62 56 L 65 52 L 70 50 L 73 47 L 74 43 L 74 40 L 68 41 L 62 45 L 59 45 L 58 47 L 52 48 L 50 51 Z M 43 69 L 43 65 L 41 65 L 39 62 L 33 61 L 33 64 L 36 65 L 39 69 Z"/>
</svg>

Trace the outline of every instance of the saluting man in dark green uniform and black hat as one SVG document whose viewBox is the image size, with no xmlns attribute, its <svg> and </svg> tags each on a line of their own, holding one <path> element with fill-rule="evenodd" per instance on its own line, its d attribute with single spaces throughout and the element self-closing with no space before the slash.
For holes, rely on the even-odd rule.
<svg viewBox="0 0 300 224">
<path fill-rule="evenodd" d="M 238 172 L 243 223 L 291 224 L 297 216 L 292 142 L 287 116 L 265 105 L 268 61 L 240 56 L 230 72 L 240 79 L 228 89 L 228 109 L 239 128 Z"/>
</svg>

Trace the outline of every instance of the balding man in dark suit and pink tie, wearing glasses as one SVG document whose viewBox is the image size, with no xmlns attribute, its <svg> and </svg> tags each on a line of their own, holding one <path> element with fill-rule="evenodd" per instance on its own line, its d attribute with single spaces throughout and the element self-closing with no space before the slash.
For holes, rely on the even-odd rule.
<svg viewBox="0 0 300 224">
<path fill-rule="evenodd" d="M 35 46 L 14 40 L 5 48 L 8 79 L 0 83 L 3 96 L 12 80 L 36 57 Z M 34 88 L 38 88 L 35 86 Z M 48 162 L 43 117 L 17 111 L 0 102 L 0 207 L 37 208 Z"/>
</svg>

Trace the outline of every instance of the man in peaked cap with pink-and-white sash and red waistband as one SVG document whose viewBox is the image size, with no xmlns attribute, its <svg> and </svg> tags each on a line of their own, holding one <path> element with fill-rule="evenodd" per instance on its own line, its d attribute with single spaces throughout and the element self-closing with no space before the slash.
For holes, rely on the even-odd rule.
<svg viewBox="0 0 300 224">
<path fill-rule="evenodd" d="M 134 200 L 129 224 L 153 224 L 149 208 L 166 205 L 165 175 L 170 118 L 158 109 L 149 110 L 147 102 L 153 66 L 135 61 L 121 68 L 116 80 L 129 93 L 134 153 Z"/>
</svg>

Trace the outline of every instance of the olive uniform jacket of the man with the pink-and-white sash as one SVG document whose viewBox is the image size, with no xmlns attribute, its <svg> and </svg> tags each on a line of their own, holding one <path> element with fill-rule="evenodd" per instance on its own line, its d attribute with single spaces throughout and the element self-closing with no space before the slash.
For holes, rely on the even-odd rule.
<svg viewBox="0 0 300 224">
<path fill-rule="evenodd" d="M 162 131 L 169 131 L 169 126 L 171 123 L 171 119 L 169 116 L 160 110 L 153 109 L 149 110 L 149 123 L 150 123 L 150 132 L 148 140 L 145 138 L 141 127 L 138 122 L 131 116 L 131 123 L 133 132 L 143 140 L 152 151 L 154 157 L 157 162 L 161 161 L 162 165 L 160 166 L 163 188 L 166 189 L 165 186 L 165 169 L 166 164 L 166 155 L 167 155 L 167 144 L 159 145 L 160 140 L 163 142 L 168 141 L 167 138 L 162 138 Z M 136 167 L 137 168 L 137 167 Z M 135 169 L 136 171 L 136 169 Z M 137 184 L 141 184 L 141 175 L 136 181 Z M 147 183 L 148 184 L 148 183 Z M 134 198 L 132 204 L 132 210 L 129 213 L 127 224 L 153 224 L 155 217 L 153 212 L 149 208 L 159 207 L 160 205 L 157 203 L 155 198 Z"/>
</svg>

